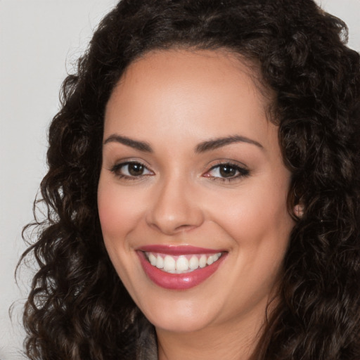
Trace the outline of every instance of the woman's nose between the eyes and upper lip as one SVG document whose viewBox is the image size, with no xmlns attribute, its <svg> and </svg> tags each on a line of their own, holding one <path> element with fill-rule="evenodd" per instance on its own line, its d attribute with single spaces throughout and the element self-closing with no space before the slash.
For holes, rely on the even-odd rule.
<svg viewBox="0 0 360 360">
<path fill-rule="evenodd" d="M 153 192 L 148 225 L 167 235 L 197 228 L 204 216 L 196 198 L 196 189 L 184 179 L 163 181 Z"/>
</svg>

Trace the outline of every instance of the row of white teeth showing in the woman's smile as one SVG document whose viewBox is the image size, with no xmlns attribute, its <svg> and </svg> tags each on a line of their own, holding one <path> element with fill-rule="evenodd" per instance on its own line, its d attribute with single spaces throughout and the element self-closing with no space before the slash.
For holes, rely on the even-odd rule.
<svg viewBox="0 0 360 360">
<path fill-rule="evenodd" d="M 158 252 L 144 252 L 148 262 L 168 274 L 188 274 L 217 262 L 222 252 L 216 254 L 167 255 Z"/>
</svg>

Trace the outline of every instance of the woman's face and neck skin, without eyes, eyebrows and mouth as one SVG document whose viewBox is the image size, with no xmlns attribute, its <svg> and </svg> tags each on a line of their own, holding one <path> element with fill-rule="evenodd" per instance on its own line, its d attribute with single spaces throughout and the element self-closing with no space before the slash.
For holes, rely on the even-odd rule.
<svg viewBox="0 0 360 360">
<path fill-rule="evenodd" d="M 155 325 L 160 360 L 250 359 L 276 295 L 294 225 L 286 205 L 290 172 L 252 71 L 225 51 L 151 52 L 129 65 L 106 108 L 98 184 L 103 238 L 122 282 Z M 109 140 L 114 134 L 153 151 Z M 250 142 L 195 151 L 228 136 Z M 141 176 L 121 177 L 129 167 L 119 164 L 129 160 L 146 167 Z M 229 162 L 248 174 L 224 179 L 219 164 Z M 153 244 L 227 255 L 200 285 L 167 290 L 150 281 L 136 255 Z"/>
</svg>

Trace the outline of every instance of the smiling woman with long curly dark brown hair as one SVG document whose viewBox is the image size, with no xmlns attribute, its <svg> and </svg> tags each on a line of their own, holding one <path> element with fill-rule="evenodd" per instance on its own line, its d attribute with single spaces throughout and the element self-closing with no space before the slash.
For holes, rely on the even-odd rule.
<svg viewBox="0 0 360 360">
<path fill-rule="evenodd" d="M 123 0 L 49 131 L 30 359 L 359 359 L 359 55 L 310 0 Z"/>
</svg>

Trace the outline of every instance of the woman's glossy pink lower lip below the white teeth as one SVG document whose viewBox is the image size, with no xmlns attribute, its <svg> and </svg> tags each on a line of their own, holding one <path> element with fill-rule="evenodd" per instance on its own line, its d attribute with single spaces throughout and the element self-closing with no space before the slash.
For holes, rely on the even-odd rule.
<svg viewBox="0 0 360 360">
<path fill-rule="evenodd" d="M 210 278 L 217 271 L 219 265 L 226 257 L 222 255 L 211 265 L 198 268 L 186 274 L 169 274 L 151 265 L 142 251 L 138 251 L 137 254 L 139 255 L 141 266 L 143 266 L 143 271 L 145 271 L 148 278 L 161 288 L 170 290 L 186 290 L 203 283 L 203 281 Z"/>
</svg>

